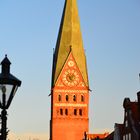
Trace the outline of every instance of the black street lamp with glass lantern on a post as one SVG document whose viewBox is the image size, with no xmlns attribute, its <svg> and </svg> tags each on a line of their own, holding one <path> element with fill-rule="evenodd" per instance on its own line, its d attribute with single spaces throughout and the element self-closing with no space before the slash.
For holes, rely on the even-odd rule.
<svg viewBox="0 0 140 140">
<path fill-rule="evenodd" d="M 1 139 L 6 140 L 7 137 L 7 109 L 9 108 L 12 99 L 17 91 L 17 88 L 21 85 L 21 81 L 15 76 L 10 74 L 11 62 L 5 55 L 5 58 L 1 62 L 2 72 L 0 73 L 0 108 L 1 111 Z"/>
</svg>

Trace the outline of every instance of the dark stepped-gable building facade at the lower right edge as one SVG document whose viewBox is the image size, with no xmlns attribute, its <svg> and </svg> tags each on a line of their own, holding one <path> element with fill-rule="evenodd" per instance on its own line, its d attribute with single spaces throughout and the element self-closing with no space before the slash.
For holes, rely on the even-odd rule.
<svg viewBox="0 0 140 140">
<path fill-rule="evenodd" d="M 115 124 L 114 140 L 140 140 L 140 92 L 137 97 L 137 101 L 124 99 L 124 122 Z"/>
</svg>

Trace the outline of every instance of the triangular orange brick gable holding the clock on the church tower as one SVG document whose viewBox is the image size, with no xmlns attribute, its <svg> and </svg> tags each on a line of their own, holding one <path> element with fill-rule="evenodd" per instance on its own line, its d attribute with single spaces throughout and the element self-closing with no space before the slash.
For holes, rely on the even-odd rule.
<svg viewBox="0 0 140 140">
<path fill-rule="evenodd" d="M 87 87 L 77 63 L 70 52 L 56 81 L 55 87 L 84 88 Z"/>
</svg>

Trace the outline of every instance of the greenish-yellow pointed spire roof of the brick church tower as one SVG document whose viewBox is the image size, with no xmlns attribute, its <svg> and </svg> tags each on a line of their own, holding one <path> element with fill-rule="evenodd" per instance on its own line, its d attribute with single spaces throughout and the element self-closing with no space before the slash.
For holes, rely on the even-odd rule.
<svg viewBox="0 0 140 140">
<path fill-rule="evenodd" d="M 88 86 L 86 58 L 82 43 L 76 0 L 65 0 L 58 39 L 54 52 L 52 86 L 55 85 L 55 82 L 70 51 L 72 51 L 83 79 Z"/>
</svg>

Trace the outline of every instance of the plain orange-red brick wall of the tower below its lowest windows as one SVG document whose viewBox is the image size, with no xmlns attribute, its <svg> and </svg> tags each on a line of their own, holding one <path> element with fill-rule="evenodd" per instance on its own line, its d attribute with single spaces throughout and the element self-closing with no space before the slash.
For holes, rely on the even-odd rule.
<svg viewBox="0 0 140 140">
<path fill-rule="evenodd" d="M 87 119 L 54 119 L 52 140 L 82 140 L 88 131 Z"/>
</svg>

